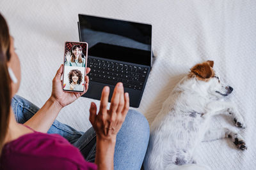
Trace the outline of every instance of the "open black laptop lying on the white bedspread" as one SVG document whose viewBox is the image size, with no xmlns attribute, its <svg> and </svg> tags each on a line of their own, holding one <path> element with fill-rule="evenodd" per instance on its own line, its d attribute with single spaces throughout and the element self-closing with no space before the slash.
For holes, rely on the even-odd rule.
<svg viewBox="0 0 256 170">
<path fill-rule="evenodd" d="M 152 25 L 79 14 L 79 39 L 88 43 L 89 88 L 83 97 L 100 100 L 104 86 L 116 83 L 138 108 L 152 67 Z"/>
</svg>

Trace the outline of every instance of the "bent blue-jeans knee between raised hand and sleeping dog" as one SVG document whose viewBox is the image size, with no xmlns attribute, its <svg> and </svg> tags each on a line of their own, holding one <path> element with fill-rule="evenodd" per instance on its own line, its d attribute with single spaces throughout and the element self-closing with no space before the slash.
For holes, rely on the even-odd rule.
<svg viewBox="0 0 256 170">
<path fill-rule="evenodd" d="M 114 169 L 140 169 L 148 147 L 149 125 L 138 111 L 129 110 L 116 136 Z"/>
</svg>

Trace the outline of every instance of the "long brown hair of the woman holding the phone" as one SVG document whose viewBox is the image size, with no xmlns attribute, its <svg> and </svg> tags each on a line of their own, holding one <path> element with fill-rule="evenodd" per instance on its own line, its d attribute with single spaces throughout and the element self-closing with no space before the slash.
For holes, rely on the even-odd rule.
<svg viewBox="0 0 256 170">
<path fill-rule="evenodd" d="M 8 25 L 0 13 L 0 155 L 8 129 L 12 100 L 8 60 L 10 60 L 10 34 Z"/>
</svg>

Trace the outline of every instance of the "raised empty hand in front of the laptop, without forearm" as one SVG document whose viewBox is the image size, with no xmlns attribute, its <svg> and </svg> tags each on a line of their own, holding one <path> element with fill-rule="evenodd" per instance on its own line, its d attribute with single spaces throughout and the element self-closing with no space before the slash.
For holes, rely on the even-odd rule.
<svg viewBox="0 0 256 170">
<path fill-rule="evenodd" d="M 90 122 L 97 133 L 97 138 L 115 141 L 116 134 L 122 127 L 129 110 L 129 94 L 124 94 L 122 83 L 117 83 L 108 110 L 109 87 L 104 87 L 100 99 L 100 109 L 97 114 L 95 103 L 90 107 Z"/>
</svg>

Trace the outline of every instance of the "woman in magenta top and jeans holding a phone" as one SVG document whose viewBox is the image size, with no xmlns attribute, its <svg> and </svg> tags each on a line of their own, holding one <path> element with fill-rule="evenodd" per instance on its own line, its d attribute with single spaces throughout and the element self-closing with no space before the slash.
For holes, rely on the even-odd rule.
<svg viewBox="0 0 256 170">
<path fill-rule="evenodd" d="M 51 97 L 40 110 L 15 96 L 20 62 L 0 14 L 0 169 L 140 169 L 149 127 L 145 117 L 128 111 L 129 96 L 122 83 L 115 87 L 109 110 L 109 87 L 102 90 L 98 113 L 91 104 L 93 128 L 84 133 L 55 120 L 61 108 L 84 94 L 63 92 L 62 74 L 61 65 L 52 80 Z M 85 81 L 86 91 L 88 76 Z"/>
</svg>

